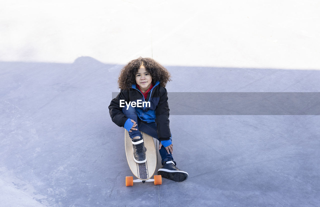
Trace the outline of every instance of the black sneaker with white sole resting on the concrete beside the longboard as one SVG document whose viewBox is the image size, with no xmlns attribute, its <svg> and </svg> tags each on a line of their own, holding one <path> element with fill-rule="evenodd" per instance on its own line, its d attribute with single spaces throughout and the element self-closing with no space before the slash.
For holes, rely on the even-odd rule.
<svg viewBox="0 0 320 207">
<path fill-rule="evenodd" d="M 187 172 L 179 170 L 176 167 L 175 161 L 167 161 L 166 163 L 164 163 L 164 165 L 162 165 L 162 168 L 158 170 L 158 175 L 176 182 L 187 180 L 189 176 Z"/>
</svg>

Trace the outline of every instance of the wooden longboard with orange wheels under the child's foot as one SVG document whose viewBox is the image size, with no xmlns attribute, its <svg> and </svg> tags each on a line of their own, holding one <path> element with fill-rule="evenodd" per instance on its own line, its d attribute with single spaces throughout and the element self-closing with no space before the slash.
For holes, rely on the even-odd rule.
<svg viewBox="0 0 320 207">
<path fill-rule="evenodd" d="M 154 179 L 150 179 L 152 175 L 155 173 L 157 164 L 157 151 L 153 138 L 150 135 L 141 132 L 147 161 L 145 163 L 136 163 L 133 159 L 133 148 L 131 138 L 129 136 L 128 131 L 124 131 L 125 155 L 127 157 L 128 165 L 130 167 L 131 172 L 135 177 L 138 178 L 137 180 L 133 180 L 132 176 L 127 176 L 126 186 L 132 186 L 133 182 L 144 183 L 146 181 L 153 181 L 155 182 L 155 185 L 161 185 L 161 175 L 155 175 Z"/>
</svg>

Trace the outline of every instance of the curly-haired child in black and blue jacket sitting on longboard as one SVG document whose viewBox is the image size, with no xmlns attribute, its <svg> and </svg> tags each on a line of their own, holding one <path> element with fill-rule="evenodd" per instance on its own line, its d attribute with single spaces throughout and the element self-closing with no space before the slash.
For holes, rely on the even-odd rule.
<svg viewBox="0 0 320 207">
<path fill-rule="evenodd" d="M 137 163 L 146 162 L 141 132 L 159 140 L 162 168 L 158 175 L 174 181 L 184 181 L 188 173 L 179 170 L 173 161 L 172 137 L 169 127 L 168 96 L 165 87 L 170 73 L 151 58 L 130 61 L 121 70 L 118 84 L 120 93 L 112 99 L 109 113 L 112 121 L 124 127 L 132 139 L 133 156 Z M 147 104 L 129 105 L 148 102 Z M 124 104 L 126 102 L 127 104 Z"/>
</svg>

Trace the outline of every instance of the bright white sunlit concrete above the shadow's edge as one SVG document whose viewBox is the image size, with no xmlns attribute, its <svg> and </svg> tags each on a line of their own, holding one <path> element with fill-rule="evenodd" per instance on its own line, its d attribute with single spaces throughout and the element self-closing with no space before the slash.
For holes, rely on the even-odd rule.
<svg viewBox="0 0 320 207">
<path fill-rule="evenodd" d="M 319 1 L 0 0 L 0 61 L 320 69 Z"/>
</svg>

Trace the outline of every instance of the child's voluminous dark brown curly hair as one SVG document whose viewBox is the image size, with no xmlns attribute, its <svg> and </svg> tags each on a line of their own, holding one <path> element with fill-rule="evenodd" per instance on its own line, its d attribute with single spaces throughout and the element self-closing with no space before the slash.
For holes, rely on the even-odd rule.
<svg viewBox="0 0 320 207">
<path fill-rule="evenodd" d="M 139 57 L 135 60 L 131 60 L 122 68 L 118 80 L 120 89 L 131 88 L 132 84 L 136 84 L 135 74 L 138 72 L 141 65 L 143 65 L 146 68 L 146 71 L 151 74 L 153 85 L 156 84 L 156 81 L 159 81 L 160 85 L 165 87 L 168 81 L 172 81 L 170 79 L 170 73 L 164 66 L 160 65 L 152 58 Z"/>
</svg>

